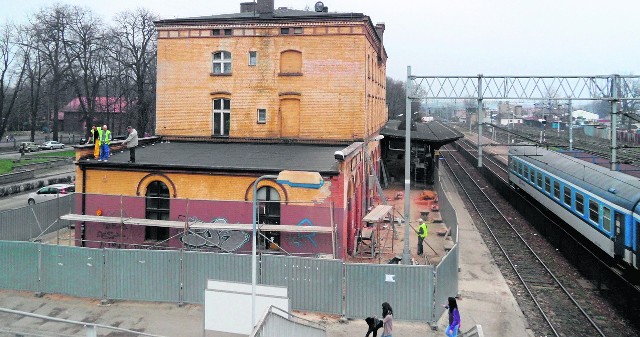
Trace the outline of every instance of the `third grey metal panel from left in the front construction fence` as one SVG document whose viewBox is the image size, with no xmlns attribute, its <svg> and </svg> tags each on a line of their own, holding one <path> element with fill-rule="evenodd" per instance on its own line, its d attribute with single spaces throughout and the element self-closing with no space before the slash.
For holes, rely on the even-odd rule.
<svg viewBox="0 0 640 337">
<path fill-rule="evenodd" d="M 108 299 L 178 302 L 180 252 L 107 249 Z"/>
</svg>

